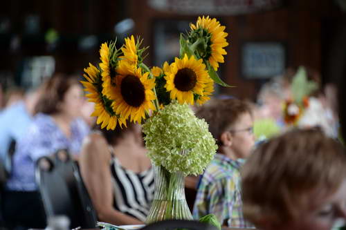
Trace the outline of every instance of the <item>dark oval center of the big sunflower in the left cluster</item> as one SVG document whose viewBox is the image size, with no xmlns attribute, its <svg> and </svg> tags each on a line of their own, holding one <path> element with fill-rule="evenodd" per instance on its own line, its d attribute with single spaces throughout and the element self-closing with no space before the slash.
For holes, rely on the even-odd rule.
<svg viewBox="0 0 346 230">
<path fill-rule="evenodd" d="M 120 93 L 127 104 L 139 107 L 145 100 L 145 89 L 138 77 L 127 75 L 122 79 Z"/>
</svg>

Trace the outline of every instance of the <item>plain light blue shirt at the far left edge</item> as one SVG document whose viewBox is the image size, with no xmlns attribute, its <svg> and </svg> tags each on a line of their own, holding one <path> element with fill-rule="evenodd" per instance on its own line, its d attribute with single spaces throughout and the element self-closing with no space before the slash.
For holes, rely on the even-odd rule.
<svg viewBox="0 0 346 230">
<path fill-rule="evenodd" d="M 0 160 L 8 153 L 11 140 L 18 140 L 26 133 L 33 117 L 23 101 L 13 104 L 0 113 Z"/>
</svg>

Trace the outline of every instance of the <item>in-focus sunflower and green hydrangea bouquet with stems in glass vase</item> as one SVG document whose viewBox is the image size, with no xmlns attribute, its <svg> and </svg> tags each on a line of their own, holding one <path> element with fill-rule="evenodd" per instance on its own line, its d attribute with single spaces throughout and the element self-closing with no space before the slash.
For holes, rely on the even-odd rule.
<svg viewBox="0 0 346 230">
<path fill-rule="evenodd" d="M 126 126 L 128 121 L 144 123 L 148 157 L 154 166 L 161 167 L 158 173 L 165 178 L 157 182 L 161 187 L 155 190 L 167 186 L 166 197 L 170 196 L 157 195 L 157 199 L 181 199 L 174 188 L 183 180 L 174 173 L 202 173 L 217 150 L 208 124 L 195 117 L 189 105 L 207 102 L 215 83 L 228 86 L 216 72 L 228 46 L 224 30 L 217 19 L 199 17 L 197 23 L 190 24 L 190 31 L 181 35 L 179 57 L 171 64 L 165 61 L 162 67 L 147 67 L 143 63 L 147 50 L 141 47 L 143 40 L 131 36 L 120 48 L 116 41 L 102 44 L 98 66 L 84 68 L 86 97 L 95 103 L 91 116 L 98 117 L 101 128 Z M 188 209 L 185 204 L 179 205 L 165 202 L 165 210 L 152 209 L 163 213 L 162 218 L 192 218 L 191 214 L 174 215 L 174 209 Z M 153 220 L 159 219 L 148 222 Z"/>
</svg>

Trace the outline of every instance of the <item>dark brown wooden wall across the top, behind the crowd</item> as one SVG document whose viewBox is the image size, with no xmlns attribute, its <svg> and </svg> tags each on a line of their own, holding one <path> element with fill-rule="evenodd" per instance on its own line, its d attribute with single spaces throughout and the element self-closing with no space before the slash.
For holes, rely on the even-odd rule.
<svg viewBox="0 0 346 230">
<path fill-rule="evenodd" d="M 244 79 L 239 73 L 240 48 L 244 41 L 283 41 L 288 51 L 288 66 L 306 65 L 323 71 L 322 61 L 328 44 L 326 34 L 330 32 L 329 19 L 338 17 L 338 12 L 331 0 L 291 0 L 285 1 L 282 8 L 259 12 L 251 15 L 217 17 L 226 26 L 228 32 L 226 64 L 222 69 L 224 80 L 235 88 L 221 88 L 221 93 L 240 98 L 255 99 L 257 90 L 264 80 Z M 160 19 L 185 19 L 196 21 L 198 15 L 182 16 L 170 12 L 158 12 L 144 0 L 11 0 L 3 3 L 0 17 L 11 19 L 10 35 L 0 35 L 3 55 L 0 57 L 0 71 L 16 72 L 19 62 L 30 55 L 53 55 L 56 69 L 59 72 L 78 72 L 87 66 L 89 61 L 98 60 L 98 47 L 86 52 L 78 50 L 78 37 L 98 35 L 99 42 L 107 41 L 113 34 L 114 25 L 125 18 L 135 21 L 136 35 L 144 39 L 144 45 L 150 46 L 147 64 L 152 65 L 153 21 Z M 18 35 L 25 38 L 23 32 L 24 17 L 36 13 L 41 19 L 41 32 L 34 38 L 36 44 L 23 45 L 17 51 L 11 51 L 10 37 Z M 330 21 L 330 20 L 329 20 Z M 332 20 L 331 20 L 332 21 Z M 44 44 L 44 32 L 55 28 L 64 43 L 52 52 Z M 6 37 L 8 36 L 8 37 Z M 25 40 L 25 39 L 24 39 Z M 41 43 L 40 43 L 41 42 Z M 7 48 L 4 48 L 7 47 Z"/>
</svg>

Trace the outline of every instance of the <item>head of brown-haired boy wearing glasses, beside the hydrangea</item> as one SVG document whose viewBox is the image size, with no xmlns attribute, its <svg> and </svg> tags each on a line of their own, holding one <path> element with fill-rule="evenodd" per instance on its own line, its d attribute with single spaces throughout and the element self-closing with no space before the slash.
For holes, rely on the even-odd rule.
<svg viewBox="0 0 346 230">
<path fill-rule="evenodd" d="M 251 106 L 239 99 L 214 99 L 199 108 L 197 117 L 209 124 L 209 131 L 222 148 L 231 149 L 237 158 L 245 158 L 255 142 Z"/>
</svg>

